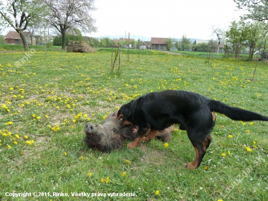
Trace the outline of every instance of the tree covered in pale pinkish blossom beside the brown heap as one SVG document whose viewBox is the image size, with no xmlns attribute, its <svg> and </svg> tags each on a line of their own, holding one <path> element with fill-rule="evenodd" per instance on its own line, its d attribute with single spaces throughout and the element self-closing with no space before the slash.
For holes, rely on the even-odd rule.
<svg viewBox="0 0 268 201">
<path fill-rule="evenodd" d="M 62 35 L 62 49 L 66 48 L 66 31 L 70 28 L 81 28 L 84 33 L 96 32 L 95 19 L 91 12 L 95 11 L 95 0 L 44 0 L 51 14 L 47 17 L 50 24 Z"/>
</svg>

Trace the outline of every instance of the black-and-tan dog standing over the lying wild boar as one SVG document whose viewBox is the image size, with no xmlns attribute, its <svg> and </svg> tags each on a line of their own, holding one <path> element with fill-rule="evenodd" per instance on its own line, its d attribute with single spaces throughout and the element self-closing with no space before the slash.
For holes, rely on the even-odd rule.
<svg viewBox="0 0 268 201">
<path fill-rule="evenodd" d="M 211 143 L 211 130 L 215 124 L 214 112 L 236 121 L 268 121 L 268 118 L 248 110 L 230 107 L 220 101 L 189 91 L 166 90 L 153 92 L 131 101 L 119 109 L 117 118 L 124 117 L 125 124 L 139 127 L 136 139 L 127 146 L 134 149 L 141 141 L 153 139 L 158 130 L 174 123 L 180 124 L 195 149 L 195 160 L 188 169 L 197 168 Z M 149 132 L 146 138 L 143 138 Z"/>
</svg>

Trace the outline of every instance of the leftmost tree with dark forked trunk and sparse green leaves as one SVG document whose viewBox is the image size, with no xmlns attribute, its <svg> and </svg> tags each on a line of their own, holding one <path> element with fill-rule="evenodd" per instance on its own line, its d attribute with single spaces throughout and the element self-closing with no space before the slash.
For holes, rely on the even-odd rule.
<svg viewBox="0 0 268 201">
<path fill-rule="evenodd" d="M 22 33 L 29 23 L 37 23 L 42 19 L 44 5 L 41 0 L 6 0 L 0 1 L 0 24 L 11 26 L 18 33 L 24 49 L 29 49 L 26 38 Z"/>
</svg>

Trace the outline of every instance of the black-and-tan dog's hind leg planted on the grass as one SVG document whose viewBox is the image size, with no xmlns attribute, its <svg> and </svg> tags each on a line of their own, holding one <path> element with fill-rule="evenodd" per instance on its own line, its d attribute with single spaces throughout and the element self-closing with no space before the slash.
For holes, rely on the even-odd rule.
<svg viewBox="0 0 268 201">
<path fill-rule="evenodd" d="M 210 146 L 211 143 L 211 135 L 208 135 L 204 141 L 196 141 L 196 139 L 191 138 L 191 136 L 189 135 L 188 137 L 192 143 L 193 148 L 195 149 L 196 154 L 194 161 L 186 165 L 188 169 L 192 170 L 199 167 L 199 165 L 203 161 L 207 148 Z"/>
</svg>

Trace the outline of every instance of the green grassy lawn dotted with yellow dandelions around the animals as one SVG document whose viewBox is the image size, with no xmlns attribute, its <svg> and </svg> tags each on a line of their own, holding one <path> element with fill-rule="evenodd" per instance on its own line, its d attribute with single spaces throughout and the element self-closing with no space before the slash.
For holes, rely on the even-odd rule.
<svg viewBox="0 0 268 201">
<path fill-rule="evenodd" d="M 255 61 L 222 58 L 206 64 L 206 58 L 150 50 L 139 57 L 133 50 L 127 61 L 122 50 L 121 70 L 112 74 L 108 49 L 50 51 L 47 60 L 35 50 L 28 59 L 25 52 L 0 54 L 0 200 L 268 200 L 267 122 L 217 114 L 211 146 L 196 170 L 185 168 L 195 157 L 185 131 L 175 131 L 168 147 L 154 139 L 131 150 L 126 142 L 110 154 L 82 142 L 86 122 L 100 123 L 151 91 L 194 91 L 268 116 L 264 62 L 249 81 Z M 26 192 L 31 196 L 6 196 Z M 79 195 L 83 192 L 89 197 Z"/>
</svg>

